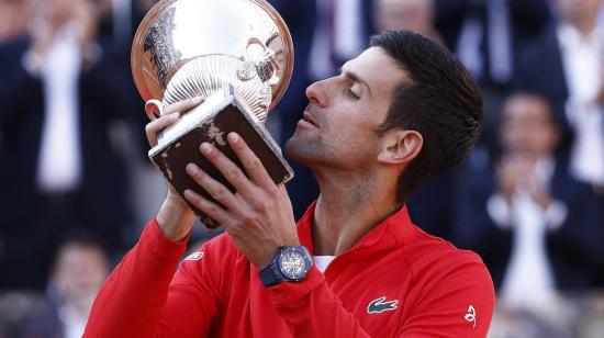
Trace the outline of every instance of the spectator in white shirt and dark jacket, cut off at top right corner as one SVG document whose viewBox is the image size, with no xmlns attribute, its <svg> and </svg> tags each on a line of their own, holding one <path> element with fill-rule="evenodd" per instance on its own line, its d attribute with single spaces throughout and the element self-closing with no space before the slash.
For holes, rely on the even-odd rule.
<svg viewBox="0 0 604 338">
<path fill-rule="evenodd" d="M 556 0 L 556 20 L 527 45 L 517 84 L 538 92 L 562 127 L 561 148 L 572 177 L 604 191 L 604 27 L 602 0 Z M 564 160 L 567 160 L 564 158 Z"/>
</svg>

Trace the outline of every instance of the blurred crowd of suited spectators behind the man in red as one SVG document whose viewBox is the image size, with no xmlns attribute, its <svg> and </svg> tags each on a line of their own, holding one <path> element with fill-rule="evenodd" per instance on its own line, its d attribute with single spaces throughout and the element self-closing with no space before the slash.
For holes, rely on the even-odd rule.
<svg viewBox="0 0 604 338">
<path fill-rule="evenodd" d="M 155 2 L 0 0 L 0 337 L 80 337 L 165 196 L 130 72 Z M 269 117 L 281 144 L 305 87 L 371 33 L 412 30 L 457 54 L 483 91 L 482 139 L 416 192 L 412 219 L 486 263 L 490 337 L 603 337 L 604 0 L 269 2 L 295 47 Z M 318 190 L 291 165 L 299 217 Z M 197 226 L 193 243 L 216 234 Z"/>
</svg>

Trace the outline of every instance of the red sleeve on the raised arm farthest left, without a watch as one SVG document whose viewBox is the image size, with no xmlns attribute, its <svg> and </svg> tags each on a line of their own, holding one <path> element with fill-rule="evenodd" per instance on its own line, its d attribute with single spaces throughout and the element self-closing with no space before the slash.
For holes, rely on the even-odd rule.
<svg viewBox="0 0 604 338">
<path fill-rule="evenodd" d="M 199 337 L 206 331 L 216 308 L 211 296 L 194 286 L 170 285 L 186 248 L 187 240 L 174 243 L 155 219 L 149 222 L 103 284 L 83 337 Z"/>
</svg>

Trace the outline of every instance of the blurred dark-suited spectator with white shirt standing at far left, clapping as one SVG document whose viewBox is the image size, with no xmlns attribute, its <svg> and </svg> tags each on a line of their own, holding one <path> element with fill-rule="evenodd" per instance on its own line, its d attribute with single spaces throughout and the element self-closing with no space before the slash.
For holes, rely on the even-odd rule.
<svg viewBox="0 0 604 338">
<path fill-rule="evenodd" d="M 44 288 L 64 229 L 86 224 L 114 251 L 131 222 L 115 133 L 131 81 L 97 40 L 96 2 L 38 1 L 34 14 L 0 45 L 0 289 Z"/>
</svg>

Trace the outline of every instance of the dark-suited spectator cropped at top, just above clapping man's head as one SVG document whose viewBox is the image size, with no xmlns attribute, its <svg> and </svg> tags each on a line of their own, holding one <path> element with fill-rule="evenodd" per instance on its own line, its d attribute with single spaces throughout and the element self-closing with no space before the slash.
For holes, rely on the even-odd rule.
<svg viewBox="0 0 604 338">
<path fill-rule="evenodd" d="M 526 42 L 551 20 L 549 0 L 435 0 L 436 26 L 478 80 L 484 101 L 481 146 L 497 151 L 497 114 L 514 89 Z"/>
</svg>

